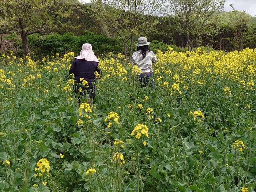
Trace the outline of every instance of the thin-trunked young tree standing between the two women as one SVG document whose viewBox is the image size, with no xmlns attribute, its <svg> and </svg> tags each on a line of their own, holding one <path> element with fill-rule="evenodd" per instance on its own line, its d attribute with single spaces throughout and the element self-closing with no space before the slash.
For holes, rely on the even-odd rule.
<svg viewBox="0 0 256 192">
<path fill-rule="evenodd" d="M 164 0 L 92 0 L 101 20 L 124 42 L 125 58 L 131 62 L 137 37 L 157 31 L 154 15 L 161 11 Z M 128 58 L 129 57 L 129 58 Z"/>
</svg>

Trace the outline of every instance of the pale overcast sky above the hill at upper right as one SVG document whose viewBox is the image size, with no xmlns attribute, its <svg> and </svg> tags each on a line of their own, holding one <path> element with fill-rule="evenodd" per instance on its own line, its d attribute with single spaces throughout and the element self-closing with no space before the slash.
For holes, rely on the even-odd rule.
<svg viewBox="0 0 256 192">
<path fill-rule="evenodd" d="M 86 3 L 91 2 L 90 0 L 83 1 Z M 256 16 L 256 0 L 226 0 L 224 11 L 233 11 L 232 7 L 229 6 L 231 3 L 233 3 L 235 10 L 246 11 L 251 16 Z"/>
</svg>

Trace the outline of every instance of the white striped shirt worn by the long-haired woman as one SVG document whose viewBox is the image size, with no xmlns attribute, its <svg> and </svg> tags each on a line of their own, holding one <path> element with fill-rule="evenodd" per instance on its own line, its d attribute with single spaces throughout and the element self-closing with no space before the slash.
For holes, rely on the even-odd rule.
<svg viewBox="0 0 256 192">
<path fill-rule="evenodd" d="M 157 61 L 157 57 L 152 51 L 147 51 L 146 57 L 143 59 L 143 55 L 140 54 L 141 50 L 138 50 L 132 54 L 132 67 L 138 65 L 138 68 L 141 69 L 142 73 L 151 73 L 153 74 L 152 62 Z"/>
</svg>

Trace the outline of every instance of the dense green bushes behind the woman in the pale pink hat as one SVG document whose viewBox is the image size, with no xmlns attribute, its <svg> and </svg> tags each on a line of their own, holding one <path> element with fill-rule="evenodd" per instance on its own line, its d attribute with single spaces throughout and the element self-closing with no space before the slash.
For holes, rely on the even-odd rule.
<svg viewBox="0 0 256 192">
<path fill-rule="evenodd" d="M 109 38 L 105 35 L 94 35 L 93 33 L 86 32 L 87 35 L 75 36 L 73 33 L 65 33 L 60 35 L 53 33 L 41 36 L 39 34 L 29 35 L 28 39 L 30 46 L 36 54 L 40 53 L 43 56 L 55 55 L 55 53 L 80 53 L 82 45 L 89 43 L 93 46 L 93 51 L 97 55 L 108 52 L 118 53 L 123 49 L 123 44 L 118 38 Z M 40 51 L 40 52 L 39 52 Z"/>
</svg>

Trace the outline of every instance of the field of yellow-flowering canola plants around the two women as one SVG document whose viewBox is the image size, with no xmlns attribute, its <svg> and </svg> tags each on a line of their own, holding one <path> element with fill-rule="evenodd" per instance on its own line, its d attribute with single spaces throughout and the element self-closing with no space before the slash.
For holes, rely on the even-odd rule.
<svg viewBox="0 0 256 192">
<path fill-rule="evenodd" d="M 109 53 L 78 103 L 74 53 L 2 54 L 1 191 L 255 191 L 256 49 L 156 56 L 154 90 Z"/>
</svg>

